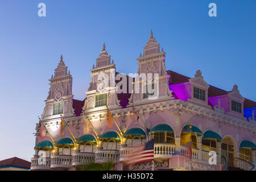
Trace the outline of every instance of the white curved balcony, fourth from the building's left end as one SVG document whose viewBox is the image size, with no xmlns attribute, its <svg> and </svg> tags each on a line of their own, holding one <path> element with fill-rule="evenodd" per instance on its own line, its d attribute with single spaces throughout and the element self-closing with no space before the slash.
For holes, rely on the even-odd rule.
<svg viewBox="0 0 256 182">
<path fill-rule="evenodd" d="M 118 150 L 100 150 L 95 152 L 95 163 L 118 163 L 119 151 Z"/>
</svg>

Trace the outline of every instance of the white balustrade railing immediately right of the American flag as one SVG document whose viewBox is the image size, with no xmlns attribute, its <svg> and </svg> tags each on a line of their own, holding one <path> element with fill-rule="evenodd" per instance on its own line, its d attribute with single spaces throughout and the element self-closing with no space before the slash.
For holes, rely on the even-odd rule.
<svg viewBox="0 0 256 182">
<path fill-rule="evenodd" d="M 154 144 L 154 158 L 170 158 L 175 153 L 175 144 Z"/>
</svg>

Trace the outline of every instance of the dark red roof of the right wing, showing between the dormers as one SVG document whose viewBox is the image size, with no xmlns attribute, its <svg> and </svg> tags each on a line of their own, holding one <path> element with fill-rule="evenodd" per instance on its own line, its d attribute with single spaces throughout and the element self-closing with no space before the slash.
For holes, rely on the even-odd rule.
<svg viewBox="0 0 256 182">
<path fill-rule="evenodd" d="M 176 73 L 174 71 L 168 70 L 167 71 L 168 75 L 170 75 L 171 77 L 169 78 L 169 84 L 179 84 L 179 83 L 183 83 L 183 82 L 188 82 L 188 79 L 190 77 L 181 75 L 179 73 Z M 209 85 L 209 89 L 208 89 L 208 97 L 214 97 L 214 96 L 222 96 L 225 95 L 231 91 L 226 91 L 226 90 L 222 90 L 220 88 L 217 88 L 215 86 Z M 256 102 L 251 101 L 247 98 L 245 98 L 245 101 L 243 102 L 243 107 L 247 108 L 247 107 L 256 107 Z"/>
</svg>

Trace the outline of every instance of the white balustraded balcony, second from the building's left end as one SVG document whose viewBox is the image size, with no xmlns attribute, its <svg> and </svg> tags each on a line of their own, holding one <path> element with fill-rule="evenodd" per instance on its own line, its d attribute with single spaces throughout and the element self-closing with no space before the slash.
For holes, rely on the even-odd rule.
<svg viewBox="0 0 256 182">
<path fill-rule="evenodd" d="M 70 168 L 72 165 L 71 155 L 52 155 L 51 168 Z"/>
</svg>

